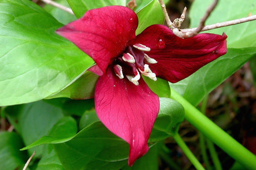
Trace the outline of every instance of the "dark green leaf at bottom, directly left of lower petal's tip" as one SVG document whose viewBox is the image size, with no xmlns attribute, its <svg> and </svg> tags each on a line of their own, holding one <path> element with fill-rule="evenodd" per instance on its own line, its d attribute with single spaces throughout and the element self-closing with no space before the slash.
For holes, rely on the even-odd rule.
<svg viewBox="0 0 256 170">
<path fill-rule="evenodd" d="M 86 126 L 72 140 L 53 146 L 65 169 L 120 169 L 127 164 L 129 155 L 129 145 L 101 122 Z"/>
</svg>

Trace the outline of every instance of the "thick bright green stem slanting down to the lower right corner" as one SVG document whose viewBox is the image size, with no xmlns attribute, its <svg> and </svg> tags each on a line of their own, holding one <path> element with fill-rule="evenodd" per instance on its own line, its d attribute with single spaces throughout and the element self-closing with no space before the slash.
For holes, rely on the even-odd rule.
<svg viewBox="0 0 256 170">
<path fill-rule="evenodd" d="M 227 154 L 241 163 L 247 169 L 256 169 L 256 156 L 244 148 L 234 138 L 230 137 L 219 126 L 213 123 L 209 118 L 199 112 L 186 99 L 180 96 L 175 90 L 172 90 L 172 99 L 177 100 L 185 108 L 185 118 L 188 122 L 201 131 L 207 138 L 218 145 Z"/>
</svg>

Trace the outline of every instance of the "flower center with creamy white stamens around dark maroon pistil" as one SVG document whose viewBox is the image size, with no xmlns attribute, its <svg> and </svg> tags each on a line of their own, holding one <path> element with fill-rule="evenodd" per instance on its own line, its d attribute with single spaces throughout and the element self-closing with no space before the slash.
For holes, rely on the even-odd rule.
<svg viewBox="0 0 256 170">
<path fill-rule="evenodd" d="M 150 48 L 141 44 L 128 46 L 125 53 L 114 61 L 114 72 L 119 79 L 125 77 L 136 86 L 139 85 L 140 73 L 156 81 L 156 74 L 149 69 L 148 64 L 155 64 L 157 61 L 150 58 L 145 52 Z"/>
</svg>

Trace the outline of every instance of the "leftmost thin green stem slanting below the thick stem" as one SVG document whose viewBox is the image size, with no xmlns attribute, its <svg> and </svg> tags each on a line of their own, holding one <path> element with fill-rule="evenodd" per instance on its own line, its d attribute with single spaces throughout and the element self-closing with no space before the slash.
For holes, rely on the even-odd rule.
<svg viewBox="0 0 256 170">
<path fill-rule="evenodd" d="M 181 139 L 179 133 L 173 135 L 174 140 L 178 143 L 180 148 L 183 150 L 185 155 L 188 157 L 190 162 L 195 166 L 196 169 L 204 169 L 204 167 L 198 162 L 197 158 L 193 155 L 186 143 Z"/>
</svg>

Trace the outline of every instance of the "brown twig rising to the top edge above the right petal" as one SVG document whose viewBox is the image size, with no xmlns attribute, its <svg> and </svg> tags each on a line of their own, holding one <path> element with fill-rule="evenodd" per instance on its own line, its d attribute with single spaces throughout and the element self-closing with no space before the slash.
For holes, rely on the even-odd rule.
<svg viewBox="0 0 256 170">
<path fill-rule="evenodd" d="M 197 35 L 199 32 L 201 32 L 201 30 L 204 27 L 205 21 L 207 20 L 207 18 L 209 18 L 211 12 L 217 6 L 218 2 L 219 2 L 219 0 L 214 0 L 212 5 L 209 6 L 209 8 L 207 8 L 206 13 L 204 14 L 203 18 L 200 20 L 198 27 L 194 31 L 186 33 L 187 37 L 193 37 L 193 36 Z"/>
</svg>

